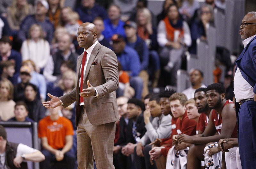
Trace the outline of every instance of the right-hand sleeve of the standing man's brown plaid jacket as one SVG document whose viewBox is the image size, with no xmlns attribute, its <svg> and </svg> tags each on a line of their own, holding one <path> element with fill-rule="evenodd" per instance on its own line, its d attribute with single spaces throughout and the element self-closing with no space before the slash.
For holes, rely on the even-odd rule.
<svg viewBox="0 0 256 169">
<path fill-rule="evenodd" d="M 108 49 L 102 57 L 100 64 L 106 83 L 99 86 L 94 86 L 99 93 L 99 97 L 115 91 L 119 84 L 116 54 L 112 50 Z"/>
</svg>

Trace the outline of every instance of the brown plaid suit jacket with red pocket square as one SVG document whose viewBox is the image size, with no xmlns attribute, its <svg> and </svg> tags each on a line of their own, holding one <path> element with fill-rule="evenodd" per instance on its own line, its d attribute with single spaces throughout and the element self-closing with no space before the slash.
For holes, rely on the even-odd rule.
<svg viewBox="0 0 256 169">
<path fill-rule="evenodd" d="M 79 78 L 83 54 L 77 60 L 77 84 L 76 87 L 60 99 L 64 107 L 76 101 L 76 126 L 80 114 L 79 106 Z M 98 64 L 97 64 L 98 63 Z M 119 84 L 118 64 L 116 54 L 102 46 L 99 42 L 93 48 L 92 54 L 86 66 L 83 89 L 88 88 L 87 80 L 99 93 L 98 98 L 93 96 L 84 98 L 84 106 L 89 121 L 92 125 L 100 125 L 119 120 L 116 103 L 116 92 Z"/>
</svg>

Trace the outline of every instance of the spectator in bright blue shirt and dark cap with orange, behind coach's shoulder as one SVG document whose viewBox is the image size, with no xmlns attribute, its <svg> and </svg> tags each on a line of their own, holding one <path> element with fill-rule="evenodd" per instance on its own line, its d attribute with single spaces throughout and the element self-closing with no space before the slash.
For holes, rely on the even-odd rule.
<svg viewBox="0 0 256 169">
<path fill-rule="evenodd" d="M 130 76 L 130 85 L 135 90 L 135 97 L 141 99 L 143 80 L 139 77 L 141 70 L 140 57 L 136 50 L 126 45 L 124 36 L 114 34 L 112 41 L 112 47 L 118 61 L 121 63 L 123 70 Z"/>
</svg>

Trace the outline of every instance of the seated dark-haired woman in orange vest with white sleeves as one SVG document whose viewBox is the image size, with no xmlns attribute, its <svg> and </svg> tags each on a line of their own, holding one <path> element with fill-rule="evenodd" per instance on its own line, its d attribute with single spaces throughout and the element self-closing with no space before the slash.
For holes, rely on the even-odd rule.
<svg viewBox="0 0 256 169">
<path fill-rule="evenodd" d="M 167 16 L 159 22 L 157 41 L 161 47 L 161 67 L 164 67 L 165 77 L 169 77 L 165 79 L 171 80 L 163 85 L 176 86 L 177 70 L 181 67 L 181 57 L 186 47 L 191 45 L 191 36 L 188 24 L 180 17 L 178 7 L 174 4 L 168 7 Z"/>
</svg>

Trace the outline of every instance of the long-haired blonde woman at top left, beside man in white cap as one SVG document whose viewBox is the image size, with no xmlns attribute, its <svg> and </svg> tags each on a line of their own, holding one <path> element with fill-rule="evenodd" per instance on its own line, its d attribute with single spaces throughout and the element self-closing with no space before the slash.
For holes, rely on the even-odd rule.
<svg viewBox="0 0 256 169">
<path fill-rule="evenodd" d="M 21 21 L 34 13 L 34 7 L 27 0 L 13 0 L 7 8 L 7 21 L 12 31 L 20 30 Z"/>
</svg>

